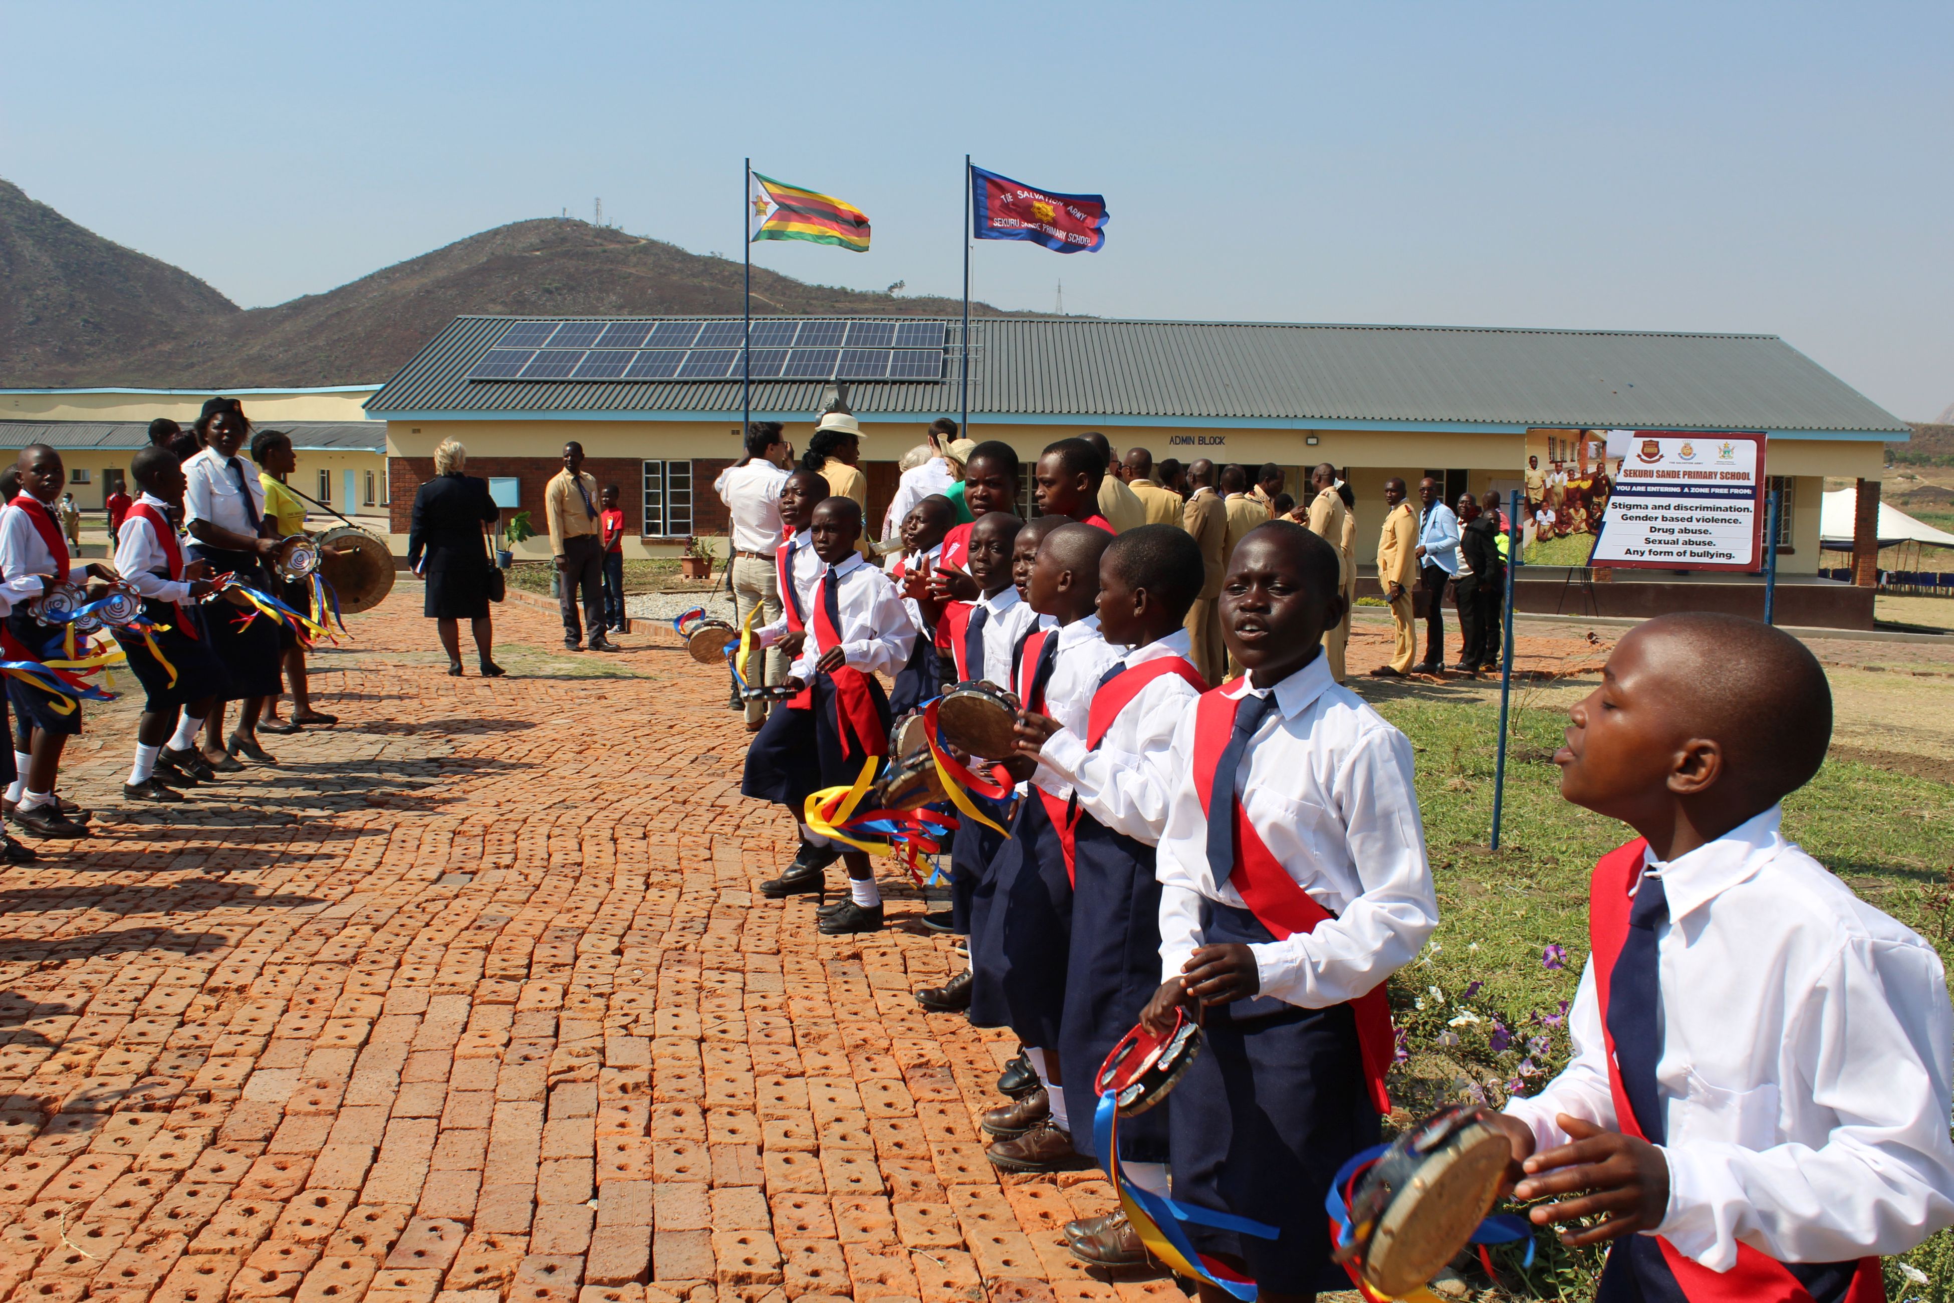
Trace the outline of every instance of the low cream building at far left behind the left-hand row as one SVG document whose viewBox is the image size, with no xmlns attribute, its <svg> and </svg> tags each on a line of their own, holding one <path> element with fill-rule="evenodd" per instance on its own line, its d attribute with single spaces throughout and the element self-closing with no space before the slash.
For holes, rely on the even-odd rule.
<svg viewBox="0 0 1954 1303">
<path fill-rule="evenodd" d="M 379 385 L 332 389 L 225 389 L 256 430 L 283 430 L 297 453 L 291 486 L 365 527 L 387 531 L 387 426 L 361 406 Z M 82 512 L 129 481 L 129 457 L 149 445 L 158 416 L 190 428 L 213 389 L 0 389 L 0 457 L 27 443 L 61 451 Z M 248 449 L 246 449 L 248 451 Z M 332 520 L 319 508 L 313 516 Z M 365 518 L 365 520 L 361 520 Z M 98 529 L 90 524 L 88 529 Z M 324 527 L 324 525 L 320 525 Z M 94 541 L 94 539 L 90 539 Z M 404 547 L 403 547 L 404 551 Z"/>
</svg>

